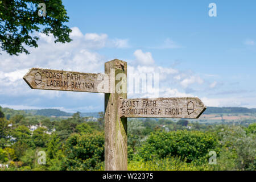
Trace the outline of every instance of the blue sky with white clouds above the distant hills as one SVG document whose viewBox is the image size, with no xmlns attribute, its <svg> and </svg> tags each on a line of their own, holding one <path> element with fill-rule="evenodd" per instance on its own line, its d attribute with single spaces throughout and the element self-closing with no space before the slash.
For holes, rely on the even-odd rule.
<svg viewBox="0 0 256 182">
<path fill-rule="evenodd" d="M 209 3 L 217 16 L 210 17 Z M 102 111 L 104 94 L 31 90 L 32 67 L 159 73 L 159 97 L 196 96 L 207 106 L 256 107 L 255 1 L 63 1 L 73 42 L 39 35 L 30 55 L 0 55 L 0 105 L 14 109 Z M 129 98 L 143 94 L 129 94 Z"/>
</svg>

